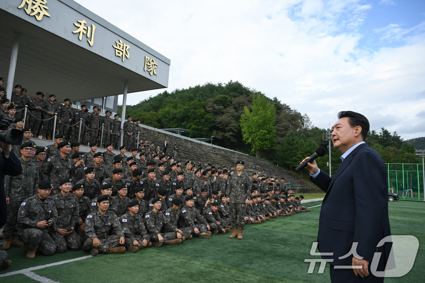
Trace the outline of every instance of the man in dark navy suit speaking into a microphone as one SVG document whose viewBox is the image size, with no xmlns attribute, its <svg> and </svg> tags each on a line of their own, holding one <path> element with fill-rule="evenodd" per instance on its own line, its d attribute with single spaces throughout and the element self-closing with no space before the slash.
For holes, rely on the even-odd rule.
<svg viewBox="0 0 425 283">
<path fill-rule="evenodd" d="M 391 235 L 388 179 L 382 157 L 364 142 L 368 131 L 365 116 L 341 111 L 332 126 L 334 147 L 343 153 L 334 177 L 320 170 L 315 161 L 307 166 L 310 180 L 326 192 L 317 241 L 322 258 L 331 264 L 332 282 L 384 281 L 370 271 L 375 252 L 382 252 L 377 271 L 384 271 L 391 250 L 391 243 L 377 247 Z"/>
</svg>

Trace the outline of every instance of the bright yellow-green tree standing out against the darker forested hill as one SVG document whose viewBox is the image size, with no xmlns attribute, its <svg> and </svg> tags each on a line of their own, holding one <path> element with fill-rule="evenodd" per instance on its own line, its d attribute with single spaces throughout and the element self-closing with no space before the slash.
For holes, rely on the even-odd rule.
<svg viewBox="0 0 425 283">
<path fill-rule="evenodd" d="M 252 99 L 251 110 L 244 106 L 240 125 L 244 142 L 251 144 L 252 152 L 258 157 L 261 150 L 275 142 L 276 110 L 274 103 L 261 93 Z"/>
</svg>

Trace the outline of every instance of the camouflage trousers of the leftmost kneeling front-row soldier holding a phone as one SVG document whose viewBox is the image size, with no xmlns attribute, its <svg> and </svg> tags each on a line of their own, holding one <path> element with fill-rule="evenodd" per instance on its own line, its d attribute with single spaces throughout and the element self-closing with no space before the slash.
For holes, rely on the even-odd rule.
<svg viewBox="0 0 425 283">
<path fill-rule="evenodd" d="M 19 238 L 21 241 L 28 244 L 28 249 L 36 249 L 44 255 L 54 255 L 56 252 L 56 243 L 48 234 L 47 229 L 20 229 Z"/>
</svg>

